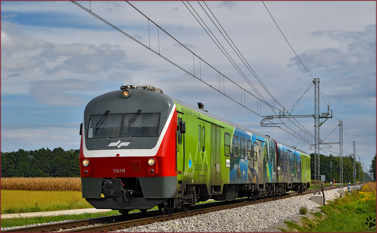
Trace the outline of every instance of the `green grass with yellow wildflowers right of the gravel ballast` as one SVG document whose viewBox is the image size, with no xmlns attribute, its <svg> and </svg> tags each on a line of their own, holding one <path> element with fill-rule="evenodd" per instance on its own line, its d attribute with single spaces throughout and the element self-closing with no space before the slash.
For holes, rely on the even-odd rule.
<svg viewBox="0 0 377 233">
<path fill-rule="evenodd" d="M 312 213 L 314 219 L 302 217 L 297 224 L 287 221 L 287 229 L 282 231 L 300 232 L 363 232 L 366 218 L 376 216 L 376 182 L 369 182 L 362 190 L 329 202 L 319 207 L 321 212 Z M 375 227 L 372 229 L 375 232 Z"/>
</svg>

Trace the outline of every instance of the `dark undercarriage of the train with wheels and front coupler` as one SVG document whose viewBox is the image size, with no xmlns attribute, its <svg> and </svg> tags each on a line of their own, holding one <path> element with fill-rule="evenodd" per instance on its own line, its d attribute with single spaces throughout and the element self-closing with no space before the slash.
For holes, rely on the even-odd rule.
<svg viewBox="0 0 377 233">
<path fill-rule="evenodd" d="M 103 197 L 86 198 L 95 208 L 111 208 L 122 214 L 139 209 L 146 212 L 155 206 L 165 214 L 175 210 L 187 212 L 190 206 L 201 201 L 230 201 L 247 197 L 250 200 L 262 199 L 266 196 L 276 197 L 288 191 L 302 193 L 310 187 L 309 183 L 266 183 L 266 184 L 225 184 L 222 193 L 208 193 L 207 185 L 185 185 L 185 190 L 176 198 L 144 198 L 138 178 L 107 178 L 101 179 Z"/>
</svg>

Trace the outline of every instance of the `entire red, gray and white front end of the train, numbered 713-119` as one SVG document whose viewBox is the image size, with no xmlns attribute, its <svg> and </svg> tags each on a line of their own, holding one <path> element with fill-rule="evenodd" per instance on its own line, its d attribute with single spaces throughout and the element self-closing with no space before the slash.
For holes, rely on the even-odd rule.
<svg viewBox="0 0 377 233">
<path fill-rule="evenodd" d="M 169 208 L 177 196 L 177 113 L 158 91 L 122 86 L 87 104 L 80 173 L 83 198 L 95 208 Z"/>
</svg>

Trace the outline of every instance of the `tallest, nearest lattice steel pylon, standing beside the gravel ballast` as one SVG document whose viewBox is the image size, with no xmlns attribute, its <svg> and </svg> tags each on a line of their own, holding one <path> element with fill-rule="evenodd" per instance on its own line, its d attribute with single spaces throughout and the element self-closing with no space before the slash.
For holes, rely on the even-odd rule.
<svg viewBox="0 0 377 233">
<path fill-rule="evenodd" d="M 314 78 L 314 195 L 319 191 L 319 78 Z"/>
</svg>

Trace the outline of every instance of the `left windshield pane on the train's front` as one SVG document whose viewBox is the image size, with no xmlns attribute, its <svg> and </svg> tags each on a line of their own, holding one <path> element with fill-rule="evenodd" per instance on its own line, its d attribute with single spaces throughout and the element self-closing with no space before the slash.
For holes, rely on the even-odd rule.
<svg viewBox="0 0 377 233">
<path fill-rule="evenodd" d="M 123 114 L 108 114 L 102 119 L 101 127 L 96 126 L 100 123 L 104 115 L 92 115 L 89 120 L 89 130 L 87 138 L 119 137 Z"/>
</svg>

